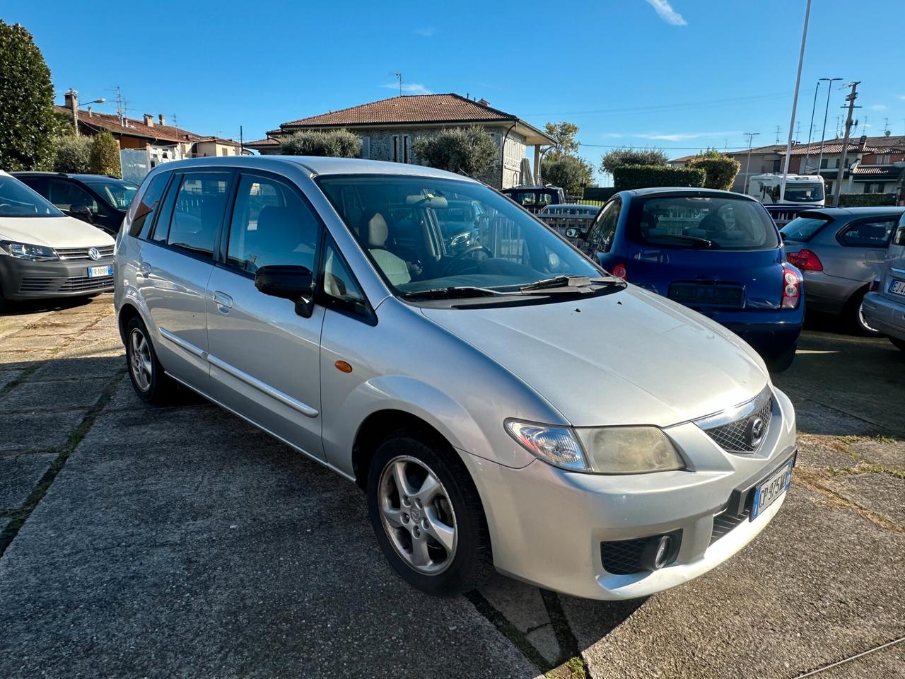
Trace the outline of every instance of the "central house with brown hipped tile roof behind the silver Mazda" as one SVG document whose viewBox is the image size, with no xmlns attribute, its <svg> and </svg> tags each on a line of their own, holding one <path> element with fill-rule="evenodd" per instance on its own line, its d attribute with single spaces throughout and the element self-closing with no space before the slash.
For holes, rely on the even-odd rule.
<svg viewBox="0 0 905 679">
<path fill-rule="evenodd" d="M 497 144 L 499 159 L 481 179 L 500 188 L 521 182 L 521 160 L 526 158 L 529 147 L 533 147 L 537 176 L 540 147 L 556 143 L 546 132 L 512 113 L 494 109 L 486 100 L 459 94 L 413 94 L 290 120 L 268 132 L 266 139 L 251 141 L 245 147 L 263 155 L 279 154 L 281 139 L 294 132 L 342 128 L 361 139 L 362 158 L 417 164 L 412 150 L 414 139 L 442 129 L 472 125 L 487 130 Z"/>
</svg>

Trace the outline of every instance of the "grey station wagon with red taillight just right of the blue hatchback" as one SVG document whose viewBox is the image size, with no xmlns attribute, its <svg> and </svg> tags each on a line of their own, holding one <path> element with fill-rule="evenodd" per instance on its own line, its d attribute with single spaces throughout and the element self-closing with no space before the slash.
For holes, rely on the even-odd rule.
<svg viewBox="0 0 905 679">
<path fill-rule="evenodd" d="M 841 316 L 853 330 L 879 334 L 862 300 L 880 275 L 892 231 L 905 207 L 826 207 L 799 213 L 781 234 L 786 258 L 805 277 L 809 311 Z"/>
</svg>

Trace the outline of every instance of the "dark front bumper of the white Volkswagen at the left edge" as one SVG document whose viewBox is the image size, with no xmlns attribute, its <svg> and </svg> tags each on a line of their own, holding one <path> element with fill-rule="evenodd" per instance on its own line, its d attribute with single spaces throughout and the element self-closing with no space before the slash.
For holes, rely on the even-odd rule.
<svg viewBox="0 0 905 679">
<path fill-rule="evenodd" d="M 89 267 L 113 266 L 113 257 L 98 260 L 34 262 L 0 255 L 0 288 L 7 300 L 80 297 L 113 290 L 113 276 L 90 278 Z"/>
</svg>

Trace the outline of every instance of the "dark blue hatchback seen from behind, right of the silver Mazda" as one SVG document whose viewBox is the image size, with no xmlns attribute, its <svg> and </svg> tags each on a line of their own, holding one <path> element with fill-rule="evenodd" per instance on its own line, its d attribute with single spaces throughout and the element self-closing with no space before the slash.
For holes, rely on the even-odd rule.
<svg viewBox="0 0 905 679">
<path fill-rule="evenodd" d="M 802 276 L 756 199 L 704 188 L 622 191 L 580 236 L 579 247 L 610 273 L 718 321 L 774 372 L 791 365 L 805 314 Z"/>
</svg>

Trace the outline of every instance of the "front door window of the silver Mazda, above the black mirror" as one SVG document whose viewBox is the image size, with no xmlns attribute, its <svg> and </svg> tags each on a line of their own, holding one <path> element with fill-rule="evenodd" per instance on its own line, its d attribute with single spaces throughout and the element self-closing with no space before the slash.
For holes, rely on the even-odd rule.
<svg viewBox="0 0 905 679">
<path fill-rule="evenodd" d="M 227 263 L 254 273 L 272 264 L 315 269 L 319 220 L 290 186 L 245 175 L 235 199 Z"/>
</svg>

